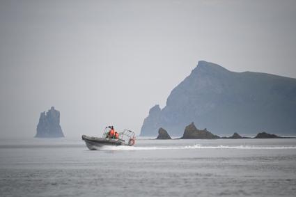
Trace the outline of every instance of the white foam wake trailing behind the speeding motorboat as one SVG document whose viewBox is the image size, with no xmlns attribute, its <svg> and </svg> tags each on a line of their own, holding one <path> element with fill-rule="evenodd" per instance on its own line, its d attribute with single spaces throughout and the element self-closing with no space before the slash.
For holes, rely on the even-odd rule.
<svg viewBox="0 0 296 197">
<path fill-rule="evenodd" d="M 185 146 L 114 146 L 104 145 L 100 150 L 182 150 L 182 149 L 242 149 L 242 150 L 277 150 L 296 149 L 296 146 L 255 146 L 255 145 L 185 145 Z"/>
</svg>

